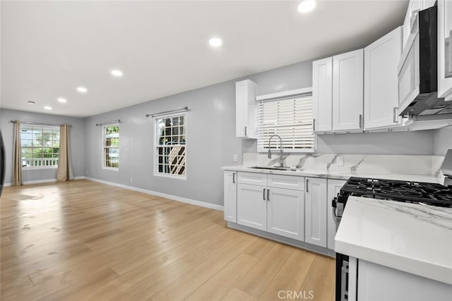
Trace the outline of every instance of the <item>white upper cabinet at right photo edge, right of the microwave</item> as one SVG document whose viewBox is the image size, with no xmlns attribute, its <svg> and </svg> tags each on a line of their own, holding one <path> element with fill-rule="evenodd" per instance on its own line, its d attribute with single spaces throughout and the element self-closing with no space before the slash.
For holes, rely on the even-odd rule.
<svg viewBox="0 0 452 301">
<path fill-rule="evenodd" d="M 438 0 L 438 96 L 452 100 L 452 1 Z"/>
</svg>

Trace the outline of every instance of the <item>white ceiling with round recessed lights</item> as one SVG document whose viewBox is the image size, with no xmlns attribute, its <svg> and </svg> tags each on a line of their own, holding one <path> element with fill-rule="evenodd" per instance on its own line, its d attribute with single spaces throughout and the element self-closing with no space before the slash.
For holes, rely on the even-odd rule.
<svg viewBox="0 0 452 301">
<path fill-rule="evenodd" d="M 401 25 L 408 0 L 298 3 L 1 1 L 1 108 L 92 116 L 337 54 Z"/>
</svg>

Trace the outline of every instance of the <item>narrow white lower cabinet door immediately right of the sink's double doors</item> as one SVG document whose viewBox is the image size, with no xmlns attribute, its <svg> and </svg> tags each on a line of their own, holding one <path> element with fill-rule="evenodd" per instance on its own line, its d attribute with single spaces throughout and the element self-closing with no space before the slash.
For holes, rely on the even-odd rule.
<svg viewBox="0 0 452 301">
<path fill-rule="evenodd" d="M 326 247 L 326 179 L 306 178 L 304 241 Z"/>
</svg>

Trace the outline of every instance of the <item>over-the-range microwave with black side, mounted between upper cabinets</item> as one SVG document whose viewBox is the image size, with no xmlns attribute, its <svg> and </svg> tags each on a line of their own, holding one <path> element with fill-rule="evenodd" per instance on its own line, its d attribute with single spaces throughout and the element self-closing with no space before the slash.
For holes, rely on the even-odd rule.
<svg viewBox="0 0 452 301">
<path fill-rule="evenodd" d="M 432 6 L 417 13 L 398 66 L 401 116 L 452 113 L 452 102 L 438 97 L 438 10 Z"/>
</svg>

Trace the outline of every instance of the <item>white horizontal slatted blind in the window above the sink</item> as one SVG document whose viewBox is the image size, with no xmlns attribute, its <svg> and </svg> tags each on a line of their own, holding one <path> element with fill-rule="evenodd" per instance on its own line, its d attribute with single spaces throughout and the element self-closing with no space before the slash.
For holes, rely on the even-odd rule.
<svg viewBox="0 0 452 301">
<path fill-rule="evenodd" d="M 261 100 L 258 106 L 258 151 L 268 150 L 268 139 L 279 135 L 285 152 L 314 152 L 312 95 Z M 279 139 L 270 149 L 279 149 Z"/>
</svg>

